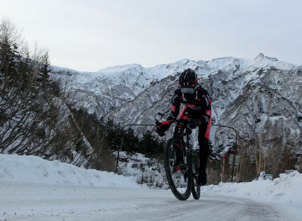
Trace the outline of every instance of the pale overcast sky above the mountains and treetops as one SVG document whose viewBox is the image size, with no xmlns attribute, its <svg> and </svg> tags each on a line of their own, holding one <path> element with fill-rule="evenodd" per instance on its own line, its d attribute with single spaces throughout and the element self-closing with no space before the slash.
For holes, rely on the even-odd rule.
<svg viewBox="0 0 302 221">
<path fill-rule="evenodd" d="M 0 0 L 0 17 L 78 71 L 259 53 L 302 65 L 302 0 Z"/>
</svg>

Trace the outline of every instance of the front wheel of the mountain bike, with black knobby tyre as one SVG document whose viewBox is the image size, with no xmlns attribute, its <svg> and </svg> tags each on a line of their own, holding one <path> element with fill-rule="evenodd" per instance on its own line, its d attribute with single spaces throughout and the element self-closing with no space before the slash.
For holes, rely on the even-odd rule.
<svg viewBox="0 0 302 221">
<path fill-rule="evenodd" d="M 184 149 L 176 138 L 168 140 L 164 149 L 166 177 L 178 200 L 187 200 L 192 188 L 191 163 L 189 158 L 184 158 Z"/>
</svg>

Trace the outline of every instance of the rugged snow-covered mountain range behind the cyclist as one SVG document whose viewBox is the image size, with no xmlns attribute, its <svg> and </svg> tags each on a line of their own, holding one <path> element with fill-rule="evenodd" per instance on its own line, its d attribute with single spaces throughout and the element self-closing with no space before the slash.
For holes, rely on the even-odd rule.
<svg viewBox="0 0 302 221">
<path fill-rule="evenodd" d="M 213 98 L 213 123 L 234 127 L 247 143 L 261 133 L 301 149 L 302 66 L 263 54 L 254 59 L 183 59 L 151 68 L 129 64 L 95 73 L 53 66 L 52 74 L 67 76 L 70 102 L 76 107 L 121 125 L 152 124 L 166 118 L 178 76 L 187 68 L 195 70 Z M 212 128 L 216 147 L 228 147 L 234 139 L 231 130 Z"/>
</svg>

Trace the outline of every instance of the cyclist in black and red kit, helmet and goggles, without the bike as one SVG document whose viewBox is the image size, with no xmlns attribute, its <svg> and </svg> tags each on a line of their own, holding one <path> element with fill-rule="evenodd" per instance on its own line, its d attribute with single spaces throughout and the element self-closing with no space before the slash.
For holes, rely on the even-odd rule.
<svg viewBox="0 0 302 221">
<path fill-rule="evenodd" d="M 189 113 L 192 117 L 188 122 L 189 128 L 195 129 L 198 127 L 200 157 L 198 184 L 205 185 L 207 184 L 206 168 L 209 156 L 208 139 L 211 128 L 212 100 L 204 88 L 197 86 L 198 77 L 193 70 L 187 69 L 181 73 L 178 82 L 180 87 L 172 96 L 172 110 L 167 120 L 178 116 L 181 103 L 186 105 L 180 117 L 186 112 Z M 169 125 L 161 125 L 157 129 L 157 133 L 159 136 L 164 136 L 165 131 L 168 129 Z"/>
</svg>

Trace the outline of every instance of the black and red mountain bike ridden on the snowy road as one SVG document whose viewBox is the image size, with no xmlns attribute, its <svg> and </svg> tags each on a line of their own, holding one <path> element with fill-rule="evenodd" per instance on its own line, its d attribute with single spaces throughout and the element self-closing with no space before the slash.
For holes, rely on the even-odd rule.
<svg viewBox="0 0 302 221">
<path fill-rule="evenodd" d="M 160 125 L 169 124 L 173 133 L 164 148 L 164 167 L 170 189 L 178 200 L 187 200 L 191 192 L 195 200 L 200 198 L 200 185 L 197 184 L 198 164 L 196 153 L 189 144 L 192 130 L 187 125 L 188 121 L 189 118 L 184 116 L 155 122 L 156 129 Z"/>
</svg>

